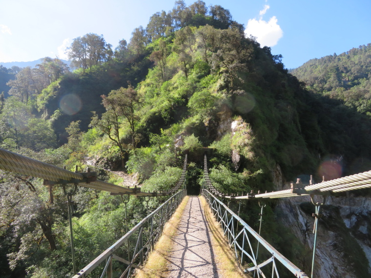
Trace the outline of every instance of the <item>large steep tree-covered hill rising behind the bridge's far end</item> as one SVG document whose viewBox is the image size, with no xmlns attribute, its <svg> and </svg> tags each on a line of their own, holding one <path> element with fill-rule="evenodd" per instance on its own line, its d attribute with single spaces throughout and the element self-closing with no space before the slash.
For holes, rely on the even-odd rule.
<svg viewBox="0 0 371 278">
<path fill-rule="evenodd" d="M 67 169 L 90 165 L 99 179 L 117 184 L 123 179 L 110 170 L 136 174 L 142 191 L 171 188 L 189 151 L 187 189 L 194 194 L 202 182 L 201 147 L 214 149 L 210 178 L 226 193 L 270 191 L 296 178 L 308 181 L 311 174 L 319 181 L 371 169 L 368 110 L 306 89 L 280 55 L 246 38 L 243 26 L 219 5 L 176 1 L 172 11 L 136 28 L 129 43 L 121 40 L 112 49 L 103 36 L 90 33 L 75 38 L 68 51 L 77 70 L 44 58 L 8 82 L 11 96 L 0 103 L 1 148 Z M 358 51 L 370 52 L 370 46 Z M 362 68 L 370 66 L 365 61 Z M 349 71 L 337 80 L 358 79 L 368 86 L 366 73 L 360 79 Z M 332 92 L 331 86 L 323 90 Z M 71 276 L 62 189 L 0 171 L 0 200 L 4 277 Z M 74 201 L 81 269 L 125 233 L 124 204 L 119 196 L 84 188 Z M 152 199 L 150 208 L 158 204 Z M 141 199 L 131 198 L 128 207 L 130 228 L 146 212 Z M 267 206 L 263 237 L 308 267 L 302 258 L 309 247 L 292 244 L 289 231 L 277 233 L 284 228 L 274 208 L 274 202 Z M 256 228 L 258 212 L 258 204 L 248 203 L 241 216 Z M 351 268 L 353 260 L 366 261 L 362 252 L 356 258 L 339 252 L 356 277 L 368 275 L 367 269 Z"/>
</svg>

